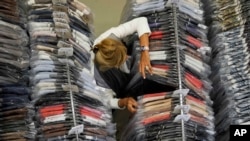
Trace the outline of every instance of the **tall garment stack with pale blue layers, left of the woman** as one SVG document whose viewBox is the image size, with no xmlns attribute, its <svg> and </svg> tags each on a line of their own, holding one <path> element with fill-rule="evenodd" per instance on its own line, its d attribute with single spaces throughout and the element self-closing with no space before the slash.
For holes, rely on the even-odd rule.
<svg viewBox="0 0 250 141">
<path fill-rule="evenodd" d="M 27 3 L 37 140 L 114 140 L 108 90 L 97 86 L 89 52 L 92 12 L 77 0 Z"/>
</svg>

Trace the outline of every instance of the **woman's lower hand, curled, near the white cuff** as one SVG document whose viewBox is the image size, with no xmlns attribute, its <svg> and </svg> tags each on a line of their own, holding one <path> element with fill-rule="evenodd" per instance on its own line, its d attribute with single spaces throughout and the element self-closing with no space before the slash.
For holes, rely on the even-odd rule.
<svg viewBox="0 0 250 141">
<path fill-rule="evenodd" d="M 137 111 L 137 102 L 132 97 L 122 98 L 118 101 L 118 105 L 120 108 L 126 107 L 128 111 L 131 113 L 135 113 Z"/>
</svg>

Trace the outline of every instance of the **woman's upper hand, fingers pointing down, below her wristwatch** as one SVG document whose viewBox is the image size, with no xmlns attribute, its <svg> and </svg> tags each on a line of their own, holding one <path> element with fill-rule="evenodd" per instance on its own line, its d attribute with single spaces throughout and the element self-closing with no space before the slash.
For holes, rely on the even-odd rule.
<svg viewBox="0 0 250 141">
<path fill-rule="evenodd" d="M 141 59 L 139 63 L 139 71 L 142 74 L 142 77 L 146 78 L 146 73 L 150 73 L 152 75 L 152 66 L 150 64 L 150 57 L 148 50 L 144 50 L 141 52 Z"/>
</svg>

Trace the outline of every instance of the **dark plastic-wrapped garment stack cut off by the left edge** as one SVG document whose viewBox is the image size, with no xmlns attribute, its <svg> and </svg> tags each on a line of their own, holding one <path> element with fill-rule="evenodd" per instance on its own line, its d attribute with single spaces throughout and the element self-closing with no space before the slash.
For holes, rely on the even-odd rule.
<svg viewBox="0 0 250 141">
<path fill-rule="evenodd" d="M 3 0 L 0 7 L 0 140 L 33 141 L 26 8 L 21 0 Z"/>
</svg>

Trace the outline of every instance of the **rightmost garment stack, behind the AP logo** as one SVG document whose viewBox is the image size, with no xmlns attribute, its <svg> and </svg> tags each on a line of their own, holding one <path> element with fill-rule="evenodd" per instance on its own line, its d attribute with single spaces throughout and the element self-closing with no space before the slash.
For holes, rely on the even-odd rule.
<svg viewBox="0 0 250 141">
<path fill-rule="evenodd" d="M 230 140 L 230 125 L 249 124 L 250 1 L 206 1 L 210 24 L 216 139 Z"/>
</svg>

